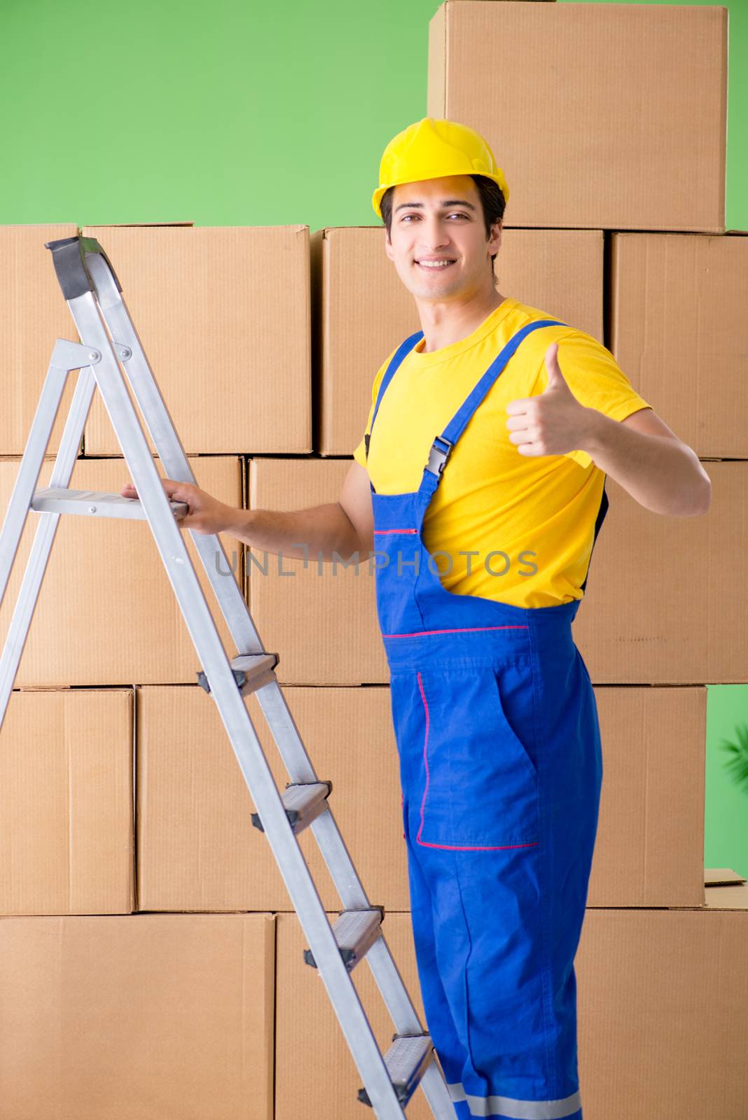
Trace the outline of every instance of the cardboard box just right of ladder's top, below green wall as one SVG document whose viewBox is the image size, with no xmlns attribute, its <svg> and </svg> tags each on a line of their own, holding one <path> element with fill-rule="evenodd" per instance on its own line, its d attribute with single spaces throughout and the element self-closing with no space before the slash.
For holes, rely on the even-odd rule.
<svg viewBox="0 0 748 1120">
<path fill-rule="evenodd" d="M 311 450 L 308 226 L 83 233 L 116 272 L 188 454 Z M 121 454 L 97 398 L 84 447 Z"/>
</svg>

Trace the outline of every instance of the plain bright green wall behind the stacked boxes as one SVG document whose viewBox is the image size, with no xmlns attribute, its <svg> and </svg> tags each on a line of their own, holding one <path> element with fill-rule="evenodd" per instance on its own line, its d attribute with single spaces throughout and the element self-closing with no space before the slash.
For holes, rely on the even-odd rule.
<svg viewBox="0 0 748 1120">
<path fill-rule="evenodd" d="M 438 6 L 0 0 L 0 223 L 374 225 L 382 149 L 426 114 Z M 727 227 L 746 230 L 748 2 L 726 7 Z M 720 747 L 748 684 L 708 694 L 704 861 L 748 877 L 748 787 Z"/>
</svg>

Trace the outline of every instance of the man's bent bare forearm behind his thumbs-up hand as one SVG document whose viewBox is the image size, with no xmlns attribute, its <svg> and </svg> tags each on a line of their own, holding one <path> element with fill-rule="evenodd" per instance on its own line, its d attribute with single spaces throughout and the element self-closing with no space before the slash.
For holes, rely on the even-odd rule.
<svg viewBox="0 0 748 1120">
<path fill-rule="evenodd" d="M 670 436 L 635 431 L 597 409 L 590 413 L 581 449 L 641 505 L 681 517 L 707 512 L 711 480 L 692 448 Z"/>
</svg>

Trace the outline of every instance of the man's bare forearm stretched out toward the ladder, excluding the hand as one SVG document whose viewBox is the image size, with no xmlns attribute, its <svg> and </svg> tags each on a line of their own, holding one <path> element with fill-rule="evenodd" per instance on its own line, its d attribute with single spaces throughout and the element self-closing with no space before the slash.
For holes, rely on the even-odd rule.
<svg viewBox="0 0 748 1120">
<path fill-rule="evenodd" d="M 309 510 L 235 510 L 226 531 L 253 549 L 298 560 L 347 560 L 361 548 L 358 534 L 338 502 Z M 296 545 L 296 547 L 294 547 Z M 301 545 L 301 547 L 299 547 Z"/>
</svg>

